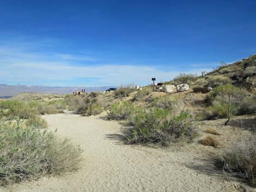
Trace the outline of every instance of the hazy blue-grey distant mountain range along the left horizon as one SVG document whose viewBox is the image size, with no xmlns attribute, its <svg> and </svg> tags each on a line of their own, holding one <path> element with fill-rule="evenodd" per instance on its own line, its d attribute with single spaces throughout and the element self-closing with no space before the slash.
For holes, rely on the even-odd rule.
<svg viewBox="0 0 256 192">
<path fill-rule="evenodd" d="M 105 91 L 117 86 L 100 86 L 95 88 L 69 87 L 69 86 L 27 86 L 27 85 L 7 85 L 0 84 L 0 97 L 14 96 L 21 92 L 41 92 L 45 94 L 71 94 L 73 91 L 86 89 L 86 92 Z"/>
</svg>

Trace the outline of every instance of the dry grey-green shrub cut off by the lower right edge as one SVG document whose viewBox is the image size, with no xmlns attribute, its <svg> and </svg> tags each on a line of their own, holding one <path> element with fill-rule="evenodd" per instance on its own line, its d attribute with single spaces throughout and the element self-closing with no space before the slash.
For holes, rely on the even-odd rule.
<svg viewBox="0 0 256 192">
<path fill-rule="evenodd" d="M 248 136 L 236 141 L 217 157 L 219 165 L 229 174 L 256 184 L 256 137 Z"/>
</svg>

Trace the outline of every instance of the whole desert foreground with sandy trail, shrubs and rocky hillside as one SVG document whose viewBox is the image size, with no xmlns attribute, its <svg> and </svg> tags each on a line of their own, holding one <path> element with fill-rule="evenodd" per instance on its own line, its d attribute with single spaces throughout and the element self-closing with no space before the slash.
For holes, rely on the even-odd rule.
<svg viewBox="0 0 256 192">
<path fill-rule="evenodd" d="M 1 100 L 2 140 L 11 146 L 2 147 L 1 157 L 10 156 L 1 190 L 255 191 L 255 78 L 252 55 L 203 77 L 181 74 L 156 91 Z M 39 138 L 31 153 L 24 144 Z"/>
</svg>

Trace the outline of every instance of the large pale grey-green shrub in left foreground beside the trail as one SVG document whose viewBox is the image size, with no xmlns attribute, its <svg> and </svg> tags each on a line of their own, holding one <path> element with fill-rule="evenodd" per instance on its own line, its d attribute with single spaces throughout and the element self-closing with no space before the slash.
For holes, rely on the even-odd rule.
<svg viewBox="0 0 256 192">
<path fill-rule="evenodd" d="M 81 152 L 69 139 L 52 132 L 0 123 L 0 184 L 77 170 Z"/>
</svg>

